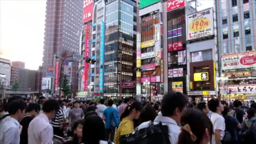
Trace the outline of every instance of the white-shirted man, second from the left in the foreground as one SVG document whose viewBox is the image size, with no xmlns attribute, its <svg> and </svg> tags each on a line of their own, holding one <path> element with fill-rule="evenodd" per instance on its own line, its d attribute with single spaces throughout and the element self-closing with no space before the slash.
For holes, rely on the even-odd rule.
<svg viewBox="0 0 256 144">
<path fill-rule="evenodd" d="M 48 99 L 43 103 L 42 109 L 43 112 L 29 123 L 28 144 L 53 144 L 53 127 L 49 120 L 59 109 L 59 102 Z"/>
</svg>

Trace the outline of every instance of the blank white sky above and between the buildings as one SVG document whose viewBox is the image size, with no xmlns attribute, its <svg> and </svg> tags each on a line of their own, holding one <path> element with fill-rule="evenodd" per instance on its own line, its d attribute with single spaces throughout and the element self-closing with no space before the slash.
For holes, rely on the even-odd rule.
<svg viewBox="0 0 256 144">
<path fill-rule="evenodd" d="M 198 11 L 213 0 L 198 0 Z M 0 56 L 38 69 L 43 62 L 46 0 L 0 0 Z"/>
</svg>

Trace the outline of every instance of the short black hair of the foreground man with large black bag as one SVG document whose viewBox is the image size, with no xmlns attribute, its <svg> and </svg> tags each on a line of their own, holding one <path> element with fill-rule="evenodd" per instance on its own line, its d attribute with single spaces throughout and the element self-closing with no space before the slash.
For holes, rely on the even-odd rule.
<svg viewBox="0 0 256 144">
<path fill-rule="evenodd" d="M 174 114 L 174 110 L 178 107 L 181 111 L 186 107 L 188 100 L 180 92 L 170 92 L 163 96 L 161 101 L 161 112 L 165 117 L 171 116 Z"/>
</svg>

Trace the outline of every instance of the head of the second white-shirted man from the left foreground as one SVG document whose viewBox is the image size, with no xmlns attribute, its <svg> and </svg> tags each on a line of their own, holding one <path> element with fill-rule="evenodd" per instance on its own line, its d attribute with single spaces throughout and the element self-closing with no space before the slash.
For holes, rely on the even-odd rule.
<svg viewBox="0 0 256 144">
<path fill-rule="evenodd" d="M 47 114 L 49 119 L 53 119 L 55 113 L 59 109 L 59 102 L 55 99 L 48 99 L 43 103 L 43 112 Z"/>
</svg>

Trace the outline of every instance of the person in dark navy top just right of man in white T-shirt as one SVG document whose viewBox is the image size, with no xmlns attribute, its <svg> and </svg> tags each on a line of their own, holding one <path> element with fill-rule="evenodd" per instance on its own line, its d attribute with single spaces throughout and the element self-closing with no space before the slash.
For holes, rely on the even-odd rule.
<svg viewBox="0 0 256 144">
<path fill-rule="evenodd" d="M 231 144 L 237 144 L 237 130 L 242 128 L 242 125 L 239 123 L 236 117 L 228 115 L 229 107 L 224 106 L 224 111 L 222 112 L 222 116 L 225 120 L 225 129 L 231 135 Z"/>
</svg>

